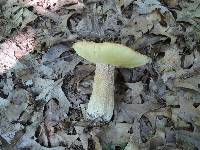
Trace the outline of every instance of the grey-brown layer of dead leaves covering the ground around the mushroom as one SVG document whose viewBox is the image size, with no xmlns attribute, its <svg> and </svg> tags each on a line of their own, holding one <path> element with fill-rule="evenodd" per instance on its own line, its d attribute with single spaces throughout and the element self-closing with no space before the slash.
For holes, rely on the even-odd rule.
<svg viewBox="0 0 200 150">
<path fill-rule="evenodd" d="M 0 149 L 200 149 L 199 0 L 2 0 Z M 95 66 L 78 40 L 152 58 L 116 69 L 109 123 L 86 106 Z"/>
</svg>

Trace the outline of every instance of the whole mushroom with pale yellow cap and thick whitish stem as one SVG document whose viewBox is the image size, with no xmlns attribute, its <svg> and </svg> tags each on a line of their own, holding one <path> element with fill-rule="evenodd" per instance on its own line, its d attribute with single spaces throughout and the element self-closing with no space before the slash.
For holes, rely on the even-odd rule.
<svg viewBox="0 0 200 150">
<path fill-rule="evenodd" d="M 114 68 L 134 68 L 151 59 L 124 45 L 109 42 L 79 41 L 73 48 L 79 56 L 96 64 L 87 118 L 108 122 L 114 109 Z"/>
</svg>

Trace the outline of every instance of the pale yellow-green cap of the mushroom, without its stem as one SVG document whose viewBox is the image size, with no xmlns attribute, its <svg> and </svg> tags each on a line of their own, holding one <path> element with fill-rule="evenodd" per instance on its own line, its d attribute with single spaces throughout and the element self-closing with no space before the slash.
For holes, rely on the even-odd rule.
<svg viewBox="0 0 200 150">
<path fill-rule="evenodd" d="M 81 41 L 73 45 L 76 53 L 92 63 L 110 64 L 123 68 L 134 68 L 150 62 L 150 58 L 131 48 L 116 43 Z"/>
</svg>

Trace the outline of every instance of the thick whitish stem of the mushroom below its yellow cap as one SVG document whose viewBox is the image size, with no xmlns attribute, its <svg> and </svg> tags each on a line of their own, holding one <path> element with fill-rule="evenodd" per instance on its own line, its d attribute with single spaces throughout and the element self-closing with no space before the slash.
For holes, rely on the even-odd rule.
<svg viewBox="0 0 200 150">
<path fill-rule="evenodd" d="M 110 121 L 114 109 L 114 66 L 96 64 L 93 91 L 88 103 L 88 119 Z"/>
</svg>

